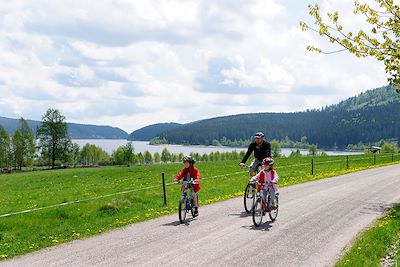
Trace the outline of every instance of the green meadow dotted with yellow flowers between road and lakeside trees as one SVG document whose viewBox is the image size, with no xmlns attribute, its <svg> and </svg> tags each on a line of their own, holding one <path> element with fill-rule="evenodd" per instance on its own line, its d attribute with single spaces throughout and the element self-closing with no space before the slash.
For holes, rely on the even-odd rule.
<svg viewBox="0 0 400 267">
<path fill-rule="evenodd" d="M 400 155 L 315 157 L 314 175 L 311 160 L 277 159 L 280 186 L 399 163 Z M 201 205 L 242 195 L 247 172 L 238 161 L 196 166 L 203 177 Z M 0 175 L 0 260 L 176 212 L 180 185 L 171 180 L 182 167 L 172 163 Z M 166 206 L 161 173 L 167 183 Z"/>
</svg>

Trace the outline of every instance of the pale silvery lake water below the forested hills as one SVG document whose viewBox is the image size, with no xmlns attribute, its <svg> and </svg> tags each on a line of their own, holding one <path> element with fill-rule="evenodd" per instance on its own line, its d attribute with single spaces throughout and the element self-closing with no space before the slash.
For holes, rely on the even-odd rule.
<svg viewBox="0 0 400 267">
<path fill-rule="evenodd" d="M 125 139 L 73 139 L 72 142 L 77 143 L 81 148 L 85 144 L 93 144 L 101 147 L 107 153 L 111 154 L 115 149 L 119 146 L 125 145 L 128 141 Z M 164 148 L 167 148 L 169 152 L 174 154 L 183 153 L 184 155 L 188 155 L 190 152 L 199 153 L 200 155 L 211 152 L 231 152 L 236 150 L 237 152 L 246 151 L 247 148 L 242 147 L 225 147 L 225 146 L 183 146 L 183 145 L 150 145 L 148 141 L 132 141 L 132 145 L 134 147 L 135 153 L 145 152 L 146 150 L 150 153 L 154 154 L 158 152 L 161 154 L 161 151 Z M 289 156 L 292 152 L 291 148 L 282 148 L 282 154 L 285 156 Z M 300 153 L 303 155 L 308 154 L 308 150 L 300 150 Z M 359 152 L 347 152 L 347 151 L 326 151 L 328 155 L 354 155 L 354 154 L 362 154 Z"/>
</svg>

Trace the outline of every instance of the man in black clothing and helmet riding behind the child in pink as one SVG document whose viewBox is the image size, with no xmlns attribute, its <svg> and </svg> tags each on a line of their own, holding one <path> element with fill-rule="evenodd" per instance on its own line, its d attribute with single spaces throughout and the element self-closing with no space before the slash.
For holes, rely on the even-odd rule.
<svg viewBox="0 0 400 267">
<path fill-rule="evenodd" d="M 244 155 L 242 161 L 239 163 L 240 167 L 246 167 L 246 161 L 250 157 L 251 153 L 254 152 L 254 161 L 250 167 L 249 174 L 254 176 L 259 166 L 262 165 L 264 158 L 271 157 L 271 144 L 264 140 L 264 134 L 258 132 L 255 134 L 255 141 L 249 145 L 246 154 Z"/>
</svg>

